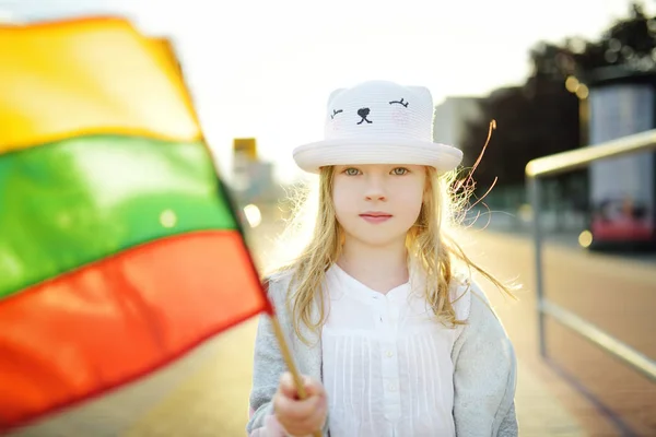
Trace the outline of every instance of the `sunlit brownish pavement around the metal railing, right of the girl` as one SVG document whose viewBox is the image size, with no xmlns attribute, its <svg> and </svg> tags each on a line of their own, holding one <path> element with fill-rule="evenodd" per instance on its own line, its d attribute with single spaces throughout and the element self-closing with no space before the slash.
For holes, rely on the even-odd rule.
<svg viewBox="0 0 656 437">
<path fill-rule="evenodd" d="M 487 286 L 519 361 L 522 436 L 655 436 L 656 385 L 560 323 L 547 320 L 548 359 L 538 352 L 534 246 L 524 233 L 471 231 L 476 261 L 524 285 L 518 302 Z M 656 262 L 548 243 L 551 302 L 656 358 Z"/>
</svg>

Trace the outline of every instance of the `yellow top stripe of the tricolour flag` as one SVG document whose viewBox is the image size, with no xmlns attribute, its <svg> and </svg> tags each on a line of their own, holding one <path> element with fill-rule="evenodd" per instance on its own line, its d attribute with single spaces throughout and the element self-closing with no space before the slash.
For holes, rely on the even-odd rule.
<svg viewBox="0 0 656 437">
<path fill-rule="evenodd" d="M 0 154 L 85 134 L 197 141 L 161 40 L 118 17 L 0 26 Z"/>
</svg>

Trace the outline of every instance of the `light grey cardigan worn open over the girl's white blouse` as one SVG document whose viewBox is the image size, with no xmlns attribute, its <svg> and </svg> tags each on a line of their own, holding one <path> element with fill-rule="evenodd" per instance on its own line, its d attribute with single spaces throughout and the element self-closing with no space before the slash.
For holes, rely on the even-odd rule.
<svg viewBox="0 0 656 437">
<path fill-rule="evenodd" d="M 285 296 L 290 273 L 269 279 L 269 297 L 294 355 L 298 370 L 321 380 L 320 335 L 304 331 L 311 345 L 294 333 L 290 315 L 285 310 Z M 513 345 L 491 309 L 485 294 L 476 283 L 458 281 L 453 287 L 462 298 L 454 303 L 456 312 L 464 309 L 467 324 L 459 326 L 452 351 L 454 371 L 454 420 L 456 434 L 462 437 L 518 435 L 515 416 L 516 358 Z M 473 296 L 473 298 L 471 297 Z M 459 306 L 460 308 L 458 308 Z M 280 375 L 286 371 L 270 319 L 259 319 L 255 342 L 255 363 L 250 409 L 253 415 L 246 430 L 265 426 L 272 414 L 271 399 L 278 388 Z M 329 436 L 328 421 L 324 436 Z"/>
</svg>

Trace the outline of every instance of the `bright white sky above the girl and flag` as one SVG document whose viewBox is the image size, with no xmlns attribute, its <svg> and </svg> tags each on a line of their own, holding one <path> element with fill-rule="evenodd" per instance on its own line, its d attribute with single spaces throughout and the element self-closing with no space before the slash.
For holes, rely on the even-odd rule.
<svg viewBox="0 0 656 437">
<path fill-rule="evenodd" d="M 655 13 L 656 1 L 645 8 Z M 0 0 L 0 21 L 112 13 L 171 37 L 224 176 L 232 140 L 255 137 L 291 181 L 301 174 L 292 150 L 321 139 L 332 90 L 384 79 L 427 86 L 435 104 L 483 96 L 522 84 L 539 40 L 597 38 L 629 9 L 628 0 Z"/>
</svg>

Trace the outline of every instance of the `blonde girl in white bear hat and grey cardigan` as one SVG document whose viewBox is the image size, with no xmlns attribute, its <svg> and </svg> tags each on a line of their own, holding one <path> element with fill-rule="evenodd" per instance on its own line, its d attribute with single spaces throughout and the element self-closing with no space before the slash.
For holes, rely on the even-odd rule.
<svg viewBox="0 0 656 437">
<path fill-rule="evenodd" d="M 304 250 L 268 281 L 307 398 L 269 319 L 255 345 L 255 436 L 516 436 L 515 355 L 448 227 L 461 152 L 432 142 L 424 87 L 333 92 L 326 139 L 294 150 L 319 175 Z M 302 218 L 306 222 L 304 218 Z"/>
</svg>

